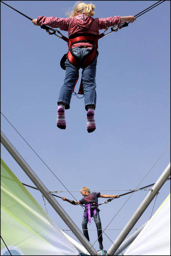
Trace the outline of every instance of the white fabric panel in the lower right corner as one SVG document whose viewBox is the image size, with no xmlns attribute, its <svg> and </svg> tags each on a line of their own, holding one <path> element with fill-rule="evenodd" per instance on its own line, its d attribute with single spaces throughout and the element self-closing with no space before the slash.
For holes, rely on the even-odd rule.
<svg viewBox="0 0 171 256">
<path fill-rule="evenodd" d="M 124 255 L 170 255 L 170 194 Z"/>
</svg>

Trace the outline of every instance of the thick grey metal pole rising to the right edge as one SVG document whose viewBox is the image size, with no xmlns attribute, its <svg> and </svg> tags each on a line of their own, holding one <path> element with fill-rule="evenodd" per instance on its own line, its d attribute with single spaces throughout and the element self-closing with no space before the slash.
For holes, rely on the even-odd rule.
<svg viewBox="0 0 171 256">
<path fill-rule="evenodd" d="M 126 226 L 123 228 L 123 230 L 120 232 L 118 237 L 115 239 L 114 243 L 111 245 L 111 247 L 107 251 L 107 255 L 113 255 L 117 251 L 117 248 L 124 241 L 126 236 L 129 234 L 130 230 L 133 228 L 135 223 L 139 220 L 139 218 L 141 217 L 145 209 L 147 209 L 148 205 L 154 199 L 154 197 L 159 192 L 160 188 L 163 186 L 163 184 L 166 182 L 169 176 L 170 176 L 170 163 L 168 164 L 168 166 L 166 167 L 162 175 L 159 177 L 159 179 L 157 179 L 156 183 L 151 188 L 150 192 L 147 194 L 147 196 L 142 201 L 142 203 L 139 205 L 138 209 L 132 215 L 132 217 L 126 224 Z"/>
</svg>

